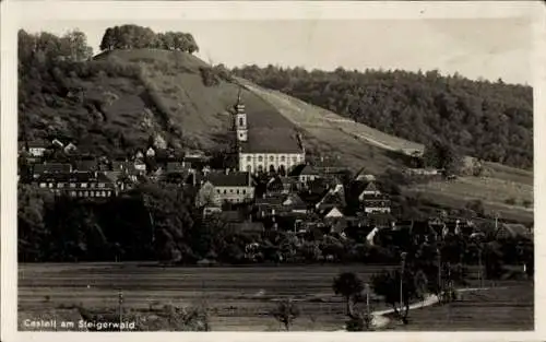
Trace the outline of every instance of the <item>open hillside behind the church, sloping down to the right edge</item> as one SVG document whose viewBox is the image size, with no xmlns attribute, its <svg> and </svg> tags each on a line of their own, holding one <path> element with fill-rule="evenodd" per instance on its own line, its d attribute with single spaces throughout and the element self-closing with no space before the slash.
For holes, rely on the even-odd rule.
<svg viewBox="0 0 546 342">
<path fill-rule="evenodd" d="M 404 164 L 397 151 L 424 149 L 234 78 L 222 66 L 163 49 L 110 50 L 91 61 L 27 70 L 20 82 L 21 132 L 28 139 L 66 137 L 91 153 L 128 153 L 152 141 L 175 149 L 225 150 L 232 141 L 230 108 L 239 84 L 250 127 L 269 129 L 273 137 L 275 131 L 290 137 L 300 132 L 310 154 L 337 160 L 354 172 L 400 169 Z M 405 191 L 418 191 L 451 208 L 480 199 L 486 210 L 532 220 L 532 210 L 521 204 L 533 199 L 532 173 L 487 166 L 487 177 L 462 177 Z M 509 198 L 519 204 L 506 204 Z"/>
</svg>

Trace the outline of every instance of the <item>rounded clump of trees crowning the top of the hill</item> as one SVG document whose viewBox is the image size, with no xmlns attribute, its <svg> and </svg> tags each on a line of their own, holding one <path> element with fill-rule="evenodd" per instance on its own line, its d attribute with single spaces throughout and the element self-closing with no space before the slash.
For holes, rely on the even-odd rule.
<svg viewBox="0 0 546 342">
<path fill-rule="evenodd" d="M 115 49 L 164 49 L 180 50 L 188 54 L 199 51 L 199 46 L 190 33 L 155 33 L 150 27 L 121 25 L 106 28 L 100 40 L 102 51 Z"/>
</svg>

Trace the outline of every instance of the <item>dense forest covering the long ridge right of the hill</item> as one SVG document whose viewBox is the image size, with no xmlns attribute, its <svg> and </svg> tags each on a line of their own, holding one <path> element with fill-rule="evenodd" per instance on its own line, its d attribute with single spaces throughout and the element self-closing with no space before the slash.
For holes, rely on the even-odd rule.
<svg viewBox="0 0 546 342">
<path fill-rule="evenodd" d="M 533 167 L 533 90 L 438 71 L 307 71 L 246 66 L 233 72 L 389 134 L 519 168 Z"/>
</svg>

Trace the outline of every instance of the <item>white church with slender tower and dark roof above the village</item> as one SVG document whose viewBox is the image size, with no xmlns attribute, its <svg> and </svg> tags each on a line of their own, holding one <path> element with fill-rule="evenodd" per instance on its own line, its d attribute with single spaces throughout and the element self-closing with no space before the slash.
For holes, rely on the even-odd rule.
<svg viewBox="0 0 546 342">
<path fill-rule="evenodd" d="M 240 89 L 234 109 L 239 172 L 276 172 L 286 175 L 294 166 L 305 163 L 301 135 L 295 132 L 292 122 L 285 118 L 278 120 L 280 114 L 266 111 L 254 113 L 249 122 Z M 281 125 L 263 125 L 268 122 L 268 117 L 274 117 Z"/>
</svg>

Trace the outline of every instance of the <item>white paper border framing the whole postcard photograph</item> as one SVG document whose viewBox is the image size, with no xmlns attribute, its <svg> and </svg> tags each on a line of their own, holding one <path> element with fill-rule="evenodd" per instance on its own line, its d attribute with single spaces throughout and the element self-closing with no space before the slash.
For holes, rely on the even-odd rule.
<svg viewBox="0 0 546 342">
<path fill-rule="evenodd" d="M 535 135 L 535 332 L 375 332 L 365 337 L 357 333 L 339 332 L 186 332 L 174 333 L 84 333 L 84 332 L 16 332 L 16 31 L 21 17 L 25 20 L 365 20 L 365 19 L 441 19 L 441 17 L 509 17 L 529 16 L 535 21 L 535 54 L 533 55 L 535 132 L 546 125 L 544 122 L 545 102 L 541 97 L 541 89 L 546 80 L 546 27 L 545 9 L 539 1 L 468 1 L 468 2 L 345 2 L 345 1 L 238 1 L 238 2 L 174 2 L 174 1 L 2 1 L 1 13 L 1 340 L 2 341 L 145 341 L 156 339 L 185 339 L 187 341 L 260 341 L 283 340 L 301 341 L 356 341 L 364 339 L 373 341 L 541 341 L 545 329 L 545 295 L 538 291 L 544 288 L 544 271 L 542 261 L 545 250 L 541 223 L 544 214 L 544 199 L 538 196 L 541 186 L 546 181 L 541 158 L 544 135 Z M 501 28 L 500 28 L 501 30 Z M 517 68 L 518 66 L 514 66 Z"/>
</svg>

